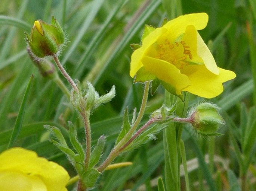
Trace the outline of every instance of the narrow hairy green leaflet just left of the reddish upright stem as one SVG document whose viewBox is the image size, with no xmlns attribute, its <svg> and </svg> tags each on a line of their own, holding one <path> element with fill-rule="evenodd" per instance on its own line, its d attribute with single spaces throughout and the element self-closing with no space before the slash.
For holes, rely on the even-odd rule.
<svg viewBox="0 0 256 191">
<path fill-rule="evenodd" d="M 77 131 L 75 130 L 75 127 L 71 121 L 68 121 L 68 127 L 69 127 L 69 136 L 70 136 L 70 142 L 72 146 L 74 147 L 75 151 L 80 156 L 80 160 L 77 161 L 79 163 L 83 163 L 84 161 L 84 149 L 81 143 L 79 143 L 77 139 Z"/>
</svg>

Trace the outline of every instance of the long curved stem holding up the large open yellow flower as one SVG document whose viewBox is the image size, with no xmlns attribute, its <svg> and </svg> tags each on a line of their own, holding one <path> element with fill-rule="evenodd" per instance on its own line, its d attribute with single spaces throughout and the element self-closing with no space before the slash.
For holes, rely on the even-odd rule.
<svg viewBox="0 0 256 191">
<path fill-rule="evenodd" d="M 133 132 L 136 130 L 136 128 L 138 127 L 139 123 L 142 120 L 142 117 L 144 115 L 145 112 L 145 108 L 146 108 L 146 102 L 148 100 L 148 92 L 149 92 L 149 85 L 150 82 L 146 82 L 145 83 L 145 87 L 144 87 L 144 93 L 143 93 L 143 98 L 142 98 L 142 103 L 141 103 L 141 108 L 139 110 L 139 114 L 134 122 L 134 124 L 132 125 L 132 127 L 130 128 L 130 130 L 127 132 L 127 134 L 123 137 L 123 139 L 114 147 L 114 149 L 112 149 L 112 151 L 110 152 L 110 154 L 108 155 L 107 159 L 98 167 L 98 171 L 102 172 L 104 171 L 105 168 L 107 168 L 107 166 L 115 159 L 115 157 L 118 156 L 118 154 L 120 153 L 121 150 L 123 150 L 126 146 L 128 146 L 128 142 L 130 139 L 135 139 L 136 137 L 134 136 L 138 136 L 139 134 L 135 135 L 132 137 Z M 149 120 L 150 121 L 150 120 Z M 148 122 L 149 122 L 148 121 Z M 148 123 L 147 122 L 147 123 Z M 147 124 L 146 123 L 146 124 Z M 150 124 L 152 124 L 151 122 L 149 122 Z M 145 125 L 146 125 L 145 124 Z M 149 125 L 150 125 L 149 124 Z M 144 125 L 144 126 L 145 126 Z M 148 125 L 146 127 L 141 127 L 141 128 L 146 128 L 148 127 Z M 140 131 L 141 129 L 139 129 L 138 131 Z M 137 131 L 137 133 L 138 133 Z M 130 138 L 132 137 L 132 138 Z M 127 145 L 126 145 L 127 144 Z M 130 143 L 129 143 L 130 144 Z M 123 147 L 124 145 L 126 145 L 125 147 Z M 123 148 L 122 148 L 123 147 Z M 121 149 L 122 148 L 122 149 Z M 121 149 L 121 150 L 120 150 Z"/>
</svg>

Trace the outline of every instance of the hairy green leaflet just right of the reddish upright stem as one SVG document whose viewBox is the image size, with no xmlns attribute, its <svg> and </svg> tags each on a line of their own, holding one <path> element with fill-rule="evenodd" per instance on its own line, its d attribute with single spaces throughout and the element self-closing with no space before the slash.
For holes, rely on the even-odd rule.
<svg viewBox="0 0 256 191">
<path fill-rule="evenodd" d="M 101 137 L 99 137 L 98 143 L 96 144 L 90 156 L 90 162 L 88 167 L 89 169 L 93 168 L 99 162 L 99 159 L 101 159 L 104 146 L 105 146 L 105 136 L 102 135 Z"/>
</svg>

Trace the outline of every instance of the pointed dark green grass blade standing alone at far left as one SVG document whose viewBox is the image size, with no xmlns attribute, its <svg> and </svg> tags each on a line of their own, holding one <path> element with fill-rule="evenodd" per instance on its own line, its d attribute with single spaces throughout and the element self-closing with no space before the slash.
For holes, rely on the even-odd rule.
<svg viewBox="0 0 256 191">
<path fill-rule="evenodd" d="M 9 144 L 7 146 L 7 149 L 9 149 L 10 147 L 12 147 L 13 143 L 16 141 L 20 131 L 21 131 L 21 127 L 22 127 L 22 122 L 24 119 L 24 115 L 25 115 L 25 109 L 28 103 L 28 97 L 30 95 L 31 92 L 31 87 L 32 87 L 32 83 L 33 83 L 33 79 L 34 79 L 34 75 L 32 75 L 30 77 L 30 80 L 28 82 L 28 86 L 27 89 L 25 91 L 22 103 L 21 103 L 21 107 L 19 108 L 19 113 L 18 113 L 18 117 L 16 118 L 16 122 L 12 131 L 12 136 L 10 137 L 10 141 Z"/>
</svg>

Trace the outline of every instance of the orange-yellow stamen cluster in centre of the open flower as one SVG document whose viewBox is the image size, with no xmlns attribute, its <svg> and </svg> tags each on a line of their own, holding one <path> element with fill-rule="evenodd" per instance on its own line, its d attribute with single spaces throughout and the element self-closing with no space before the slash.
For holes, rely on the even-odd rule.
<svg viewBox="0 0 256 191">
<path fill-rule="evenodd" d="M 185 41 L 171 43 L 168 39 L 165 39 L 164 44 L 158 44 L 157 59 L 165 60 L 175 65 L 178 69 L 183 69 L 184 66 L 188 66 L 189 60 L 193 58 L 189 48 Z"/>
</svg>

